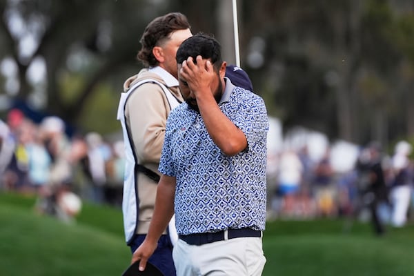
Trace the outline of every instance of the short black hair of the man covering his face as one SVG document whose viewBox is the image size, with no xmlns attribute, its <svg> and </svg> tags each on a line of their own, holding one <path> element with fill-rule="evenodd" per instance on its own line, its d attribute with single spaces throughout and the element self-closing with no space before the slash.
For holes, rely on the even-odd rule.
<svg viewBox="0 0 414 276">
<path fill-rule="evenodd" d="M 198 33 L 181 43 L 177 50 L 177 64 L 183 63 L 188 57 L 195 58 L 200 55 L 203 59 L 210 59 L 215 70 L 219 70 L 223 60 L 221 59 L 221 46 L 214 37 Z"/>
</svg>

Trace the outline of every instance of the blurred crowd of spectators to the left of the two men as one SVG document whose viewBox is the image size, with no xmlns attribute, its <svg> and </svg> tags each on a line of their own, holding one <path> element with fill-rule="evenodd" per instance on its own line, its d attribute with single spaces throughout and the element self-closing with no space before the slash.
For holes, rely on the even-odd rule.
<svg viewBox="0 0 414 276">
<path fill-rule="evenodd" d="M 70 220 L 83 201 L 121 206 L 124 144 L 70 137 L 59 117 L 35 124 L 19 109 L 0 121 L 0 188 L 36 195 L 41 213 Z"/>
</svg>

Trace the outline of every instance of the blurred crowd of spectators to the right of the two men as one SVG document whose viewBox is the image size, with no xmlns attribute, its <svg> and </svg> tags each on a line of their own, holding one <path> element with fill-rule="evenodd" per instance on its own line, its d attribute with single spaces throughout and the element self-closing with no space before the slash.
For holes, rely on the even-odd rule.
<svg viewBox="0 0 414 276">
<path fill-rule="evenodd" d="M 351 217 L 372 221 L 375 233 L 404 226 L 414 206 L 411 144 L 399 141 L 391 155 L 373 141 L 359 147 L 353 165 L 338 172 L 331 148 L 314 160 L 307 146 L 283 150 L 268 176 L 269 216 L 311 219 Z"/>
</svg>

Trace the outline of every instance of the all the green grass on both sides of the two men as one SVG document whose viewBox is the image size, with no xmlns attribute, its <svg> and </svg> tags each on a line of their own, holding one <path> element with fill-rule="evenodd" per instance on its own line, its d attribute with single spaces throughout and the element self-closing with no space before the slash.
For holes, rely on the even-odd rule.
<svg viewBox="0 0 414 276">
<path fill-rule="evenodd" d="M 75 224 L 32 210 L 34 198 L 0 193 L 0 275 L 121 275 L 130 262 L 121 211 L 84 204 Z M 414 275 L 414 228 L 375 237 L 366 224 L 269 222 L 263 275 Z M 344 231 L 348 229 L 348 231 Z"/>
</svg>

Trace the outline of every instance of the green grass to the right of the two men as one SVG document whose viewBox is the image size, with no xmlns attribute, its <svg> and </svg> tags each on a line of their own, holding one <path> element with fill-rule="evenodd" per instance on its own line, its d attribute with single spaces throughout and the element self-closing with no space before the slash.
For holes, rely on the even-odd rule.
<svg viewBox="0 0 414 276">
<path fill-rule="evenodd" d="M 375 237 L 371 229 L 366 226 L 364 230 L 360 225 L 351 233 L 344 233 L 344 221 L 288 224 L 296 230 L 266 231 L 264 275 L 414 275 L 412 229 L 390 230 L 383 237 Z M 337 231 L 330 232 L 335 228 Z M 302 229 L 302 233 L 297 229 Z"/>
</svg>

